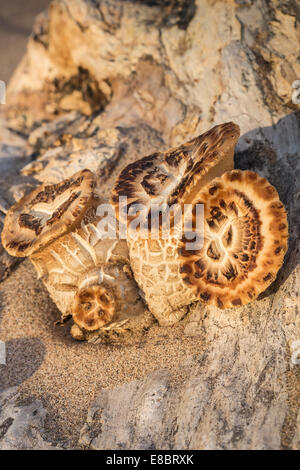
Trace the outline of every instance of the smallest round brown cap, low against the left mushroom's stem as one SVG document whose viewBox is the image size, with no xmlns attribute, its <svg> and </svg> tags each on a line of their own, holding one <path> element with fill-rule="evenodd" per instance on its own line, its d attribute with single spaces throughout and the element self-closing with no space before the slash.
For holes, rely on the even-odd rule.
<svg viewBox="0 0 300 470">
<path fill-rule="evenodd" d="M 116 311 L 113 294 L 104 286 L 91 286 L 77 292 L 72 316 L 81 328 L 95 331 L 112 321 Z"/>
</svg>

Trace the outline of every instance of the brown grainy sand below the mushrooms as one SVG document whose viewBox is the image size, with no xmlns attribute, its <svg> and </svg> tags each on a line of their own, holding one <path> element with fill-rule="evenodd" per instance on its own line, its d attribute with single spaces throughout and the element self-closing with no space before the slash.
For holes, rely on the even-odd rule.
<svg viewBox="0 0 300 470">
<path fill-rule="evenodd" d="M 76 446 L 87 410 L 101 389 L 115 387 L 167 368 L 174 382 L 185 379 L 189 360 L 201 351 L 201 338 L 184 335 L 187 319 L 159 327 L 149 313 L 145 328 L 100 344 L 77 342 L 71 322 L 60 315 L 29 260 L 0 284 L 0 340 L 7 365 L 0 366 L 0 387 L 19 385 L 24 399 L 41 399 L 49 412 L 48 440 Z M 183 366 L 183 364 L 185 364 Z"/>
</svg>

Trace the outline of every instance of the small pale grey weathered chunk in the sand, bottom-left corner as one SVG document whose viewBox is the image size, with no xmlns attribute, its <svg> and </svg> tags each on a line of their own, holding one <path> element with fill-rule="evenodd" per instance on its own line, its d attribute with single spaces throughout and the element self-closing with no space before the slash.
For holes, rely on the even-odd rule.
<svg viewBox="0 0 300 470">
<path fill-rule="evenodd" d="M 17 387 L 0 393 L 1 450 L 58 450 L 42 437 L 47 411 L 39 400 L 22 404 Z"/>
</svg>

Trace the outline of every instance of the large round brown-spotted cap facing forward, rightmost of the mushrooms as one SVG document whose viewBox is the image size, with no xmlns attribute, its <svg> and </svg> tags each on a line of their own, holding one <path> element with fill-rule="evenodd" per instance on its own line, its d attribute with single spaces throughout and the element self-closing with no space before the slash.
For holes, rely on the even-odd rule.
<svg viewBox="0 0 300 470">
<path fill-rule="evenodd" d="M 183 280 L 219 308 L 251 302 L 275 280 L 287 251 L 287 216 L 276 189 L 256 173 L 234 170 L 206 185 L 197 203 L 204 204 L 204 244 L 192 252 L 182 241 Z"/>
</svg>

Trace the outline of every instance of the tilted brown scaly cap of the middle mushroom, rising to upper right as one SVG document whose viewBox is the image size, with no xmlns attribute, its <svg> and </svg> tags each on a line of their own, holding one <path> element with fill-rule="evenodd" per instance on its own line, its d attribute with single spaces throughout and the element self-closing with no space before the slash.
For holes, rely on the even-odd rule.
<svg viewBox="0 0 300 470">
<path fill-rule="evenodd" d="M 199 187 L 233 169 L 239 135 L 236 124 L 220 124 L 180 147 L 131 163 L 121 172 L 112 193 L 117 211 L 120 196 L 128 198 L 127 206 L 123 207 L 127 214 L 132 204 L 143 204 L 150 209 L 153 204 L 171 206 L 190 202 Z M 210 170 L 215 173 L 205 180 Z"/>
</svg>

